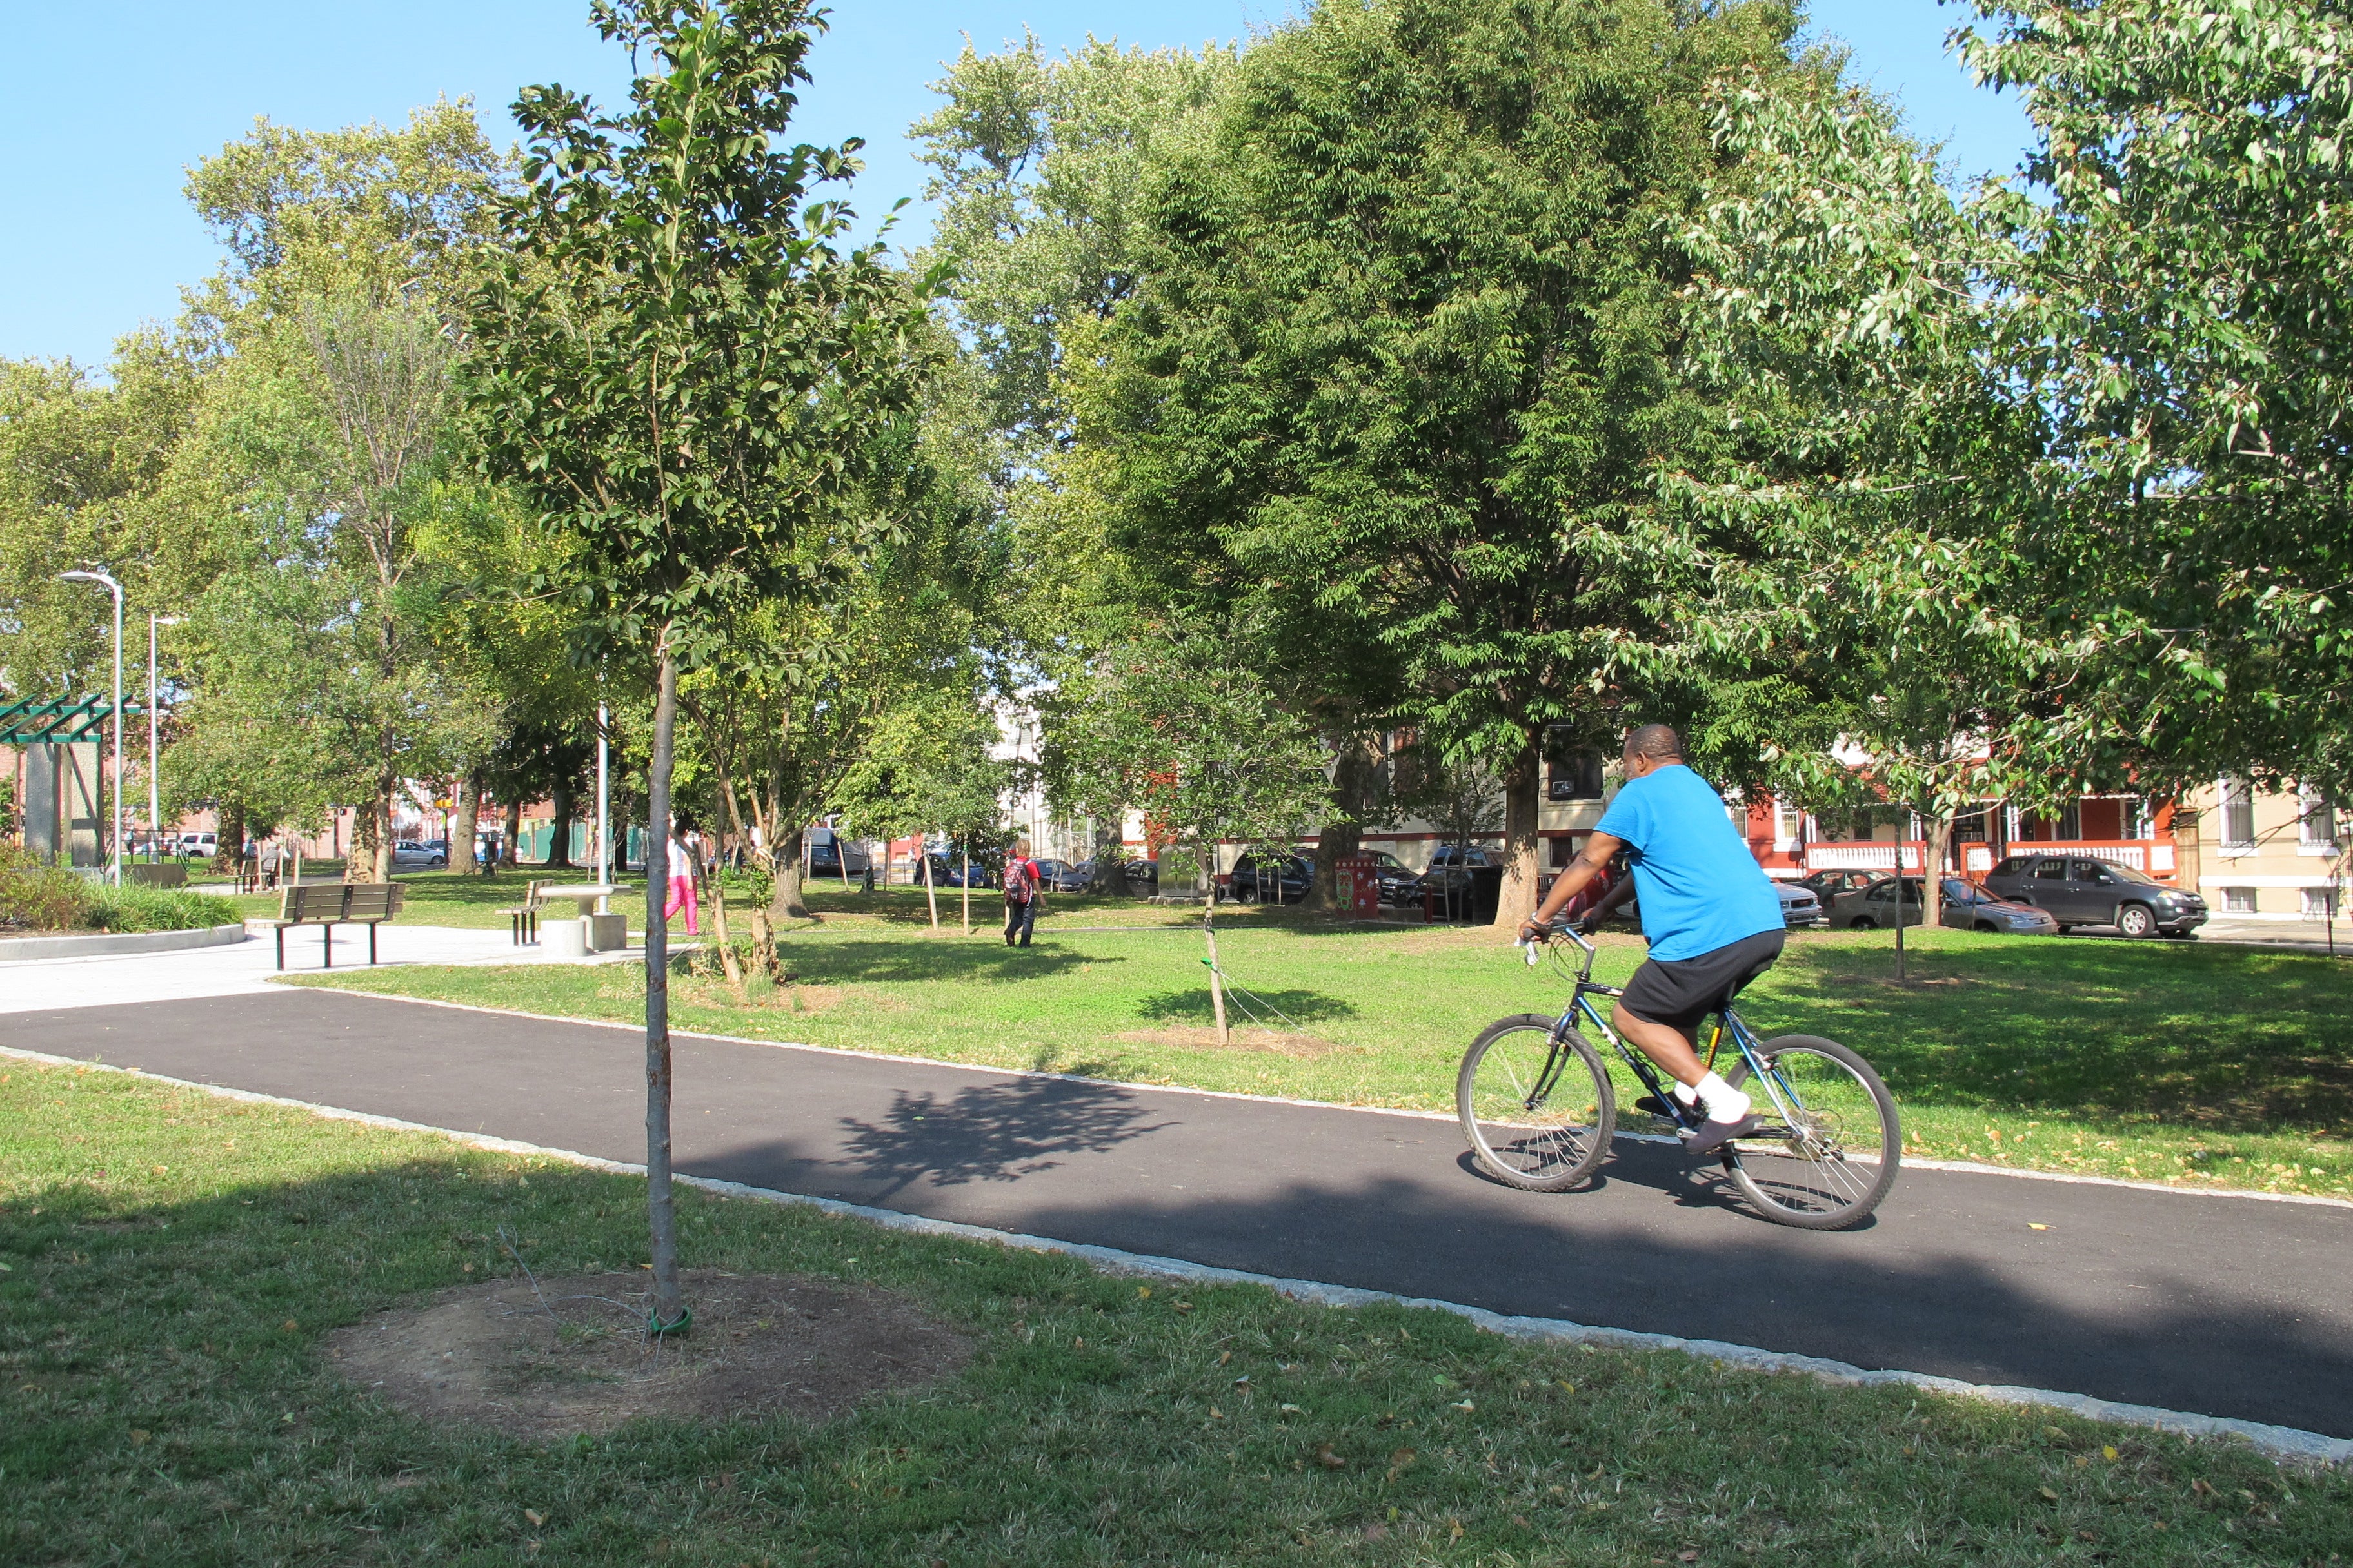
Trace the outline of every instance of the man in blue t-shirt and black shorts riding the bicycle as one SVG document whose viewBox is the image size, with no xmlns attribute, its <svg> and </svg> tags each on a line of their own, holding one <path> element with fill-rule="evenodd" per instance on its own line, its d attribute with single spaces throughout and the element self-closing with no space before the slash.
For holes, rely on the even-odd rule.
<svg viewBox="0 0 2353 1568">
<path fill-rule="evenodd" d="M 1699 1023 L 1722 1011 L 1781 957 L 1786 924 L 1765 870 L 1734 832 L 1725 802 L 1682 762 L 1682 736 L 1642 724 L 1626 736 L 1626 788 L 1617 792 L 1577 860 L 1560 872 L 1522 940 L 1551 936 L 1553 917 L 1609 858 L 1628 851 L 1642 900 L 1649 957 L 1609 1013 L 1619 1034 L 1675 1079 L 1675 1098 L 1704 1112 L 1689 1150 L 1746 1138 L 1762 1117 L 1748 1095 L 1699 1060 Z M 1617 903 L 1605 900 L 1605 907 Z M 1588 917 L 1600 919 L 1600 912 Z"/>
</svg>

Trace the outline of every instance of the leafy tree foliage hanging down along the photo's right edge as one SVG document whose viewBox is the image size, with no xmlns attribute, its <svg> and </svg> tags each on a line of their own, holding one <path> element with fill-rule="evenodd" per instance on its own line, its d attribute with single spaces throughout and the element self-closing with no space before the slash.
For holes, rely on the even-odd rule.
<svg viewBox="0 0 2353 1568">
<path fill-rule="evenodd" d="M 2040 146 L 1986 193 L 2009 364 L 2052 411 L 2047 588 L 2087 752 L 2353 778 L 2353 21 L 1981 0 L 1962 56 Z"/>
</svg>

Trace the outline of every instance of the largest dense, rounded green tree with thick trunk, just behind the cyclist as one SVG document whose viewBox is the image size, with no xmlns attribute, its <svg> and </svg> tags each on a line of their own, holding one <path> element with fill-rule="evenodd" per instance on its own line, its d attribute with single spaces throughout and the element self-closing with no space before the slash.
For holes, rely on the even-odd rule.
<svg viewBox="0 0 2353 1568">
<path fill-rule="evenodd" d="M 1115 543 L 1179 604 L 1379 649 L 1393 712 L 1506 785 L 1534 900 L 1544 729 L 1682 663 L 1715 538 L 1661 465 L 1725 440 L 1675 244 L 1732 158 L 1706 85 L 1795 71 L 1781 5 L 1379 0 L 1257 42 L 1151 188 L 1080 418 Z M 1362 661 L 1351 658 L 1362 668 Z"/>
</svg>

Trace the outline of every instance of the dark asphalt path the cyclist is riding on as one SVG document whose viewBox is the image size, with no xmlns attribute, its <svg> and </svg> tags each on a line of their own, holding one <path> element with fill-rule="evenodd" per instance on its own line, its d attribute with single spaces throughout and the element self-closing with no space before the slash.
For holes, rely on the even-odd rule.
<svg viewBox="0 0 2353 1568">
<path fill-rule="evenodd" d="M 320 990 L 0 1016 L 0 1044 L 645 1157 L 626 1030 Z M 1906 1171 L 1767 1225 L 1671 1147 L 1480 1178 L 1452 1121 L 675 1041 L 680 1171 L 1231 1269 L 2353 1436 L 2353 1208 Z M 2047 1229 L 2033 1229 L 2047 1227 Z"/>
</svg>

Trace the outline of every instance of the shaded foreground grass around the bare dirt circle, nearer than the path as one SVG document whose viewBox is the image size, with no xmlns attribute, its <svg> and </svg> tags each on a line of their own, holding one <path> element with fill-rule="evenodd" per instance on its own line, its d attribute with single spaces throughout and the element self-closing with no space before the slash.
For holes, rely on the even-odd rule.
<svg viewBox="0 0 2353 1568">
<path fill-rule="evenodd" d="M 431 1427 L 320 1338 L 511 1272 L 501 1227 L 628 1269 L 642 1182 L 0 1063 L 0 1561 L 2318 1566 L 2353 1530 L 2353 1481 L 2238 1443 L 680 1208 L 689 1265 L 901 1291 L 974 1361 L 821 1427 Z"/>
</svg>

